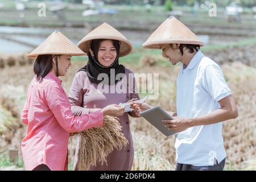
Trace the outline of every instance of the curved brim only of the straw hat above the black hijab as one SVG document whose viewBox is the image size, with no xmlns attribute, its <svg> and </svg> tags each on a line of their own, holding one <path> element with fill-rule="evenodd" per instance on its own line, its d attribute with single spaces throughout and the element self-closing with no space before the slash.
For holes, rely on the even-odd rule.
<svg viewBox="0 0 256 182">
<path fill-rule="evenodd" d="M 84 51 L 85 53 L 89 53 L 89 47 L 90 47 L 90 42 L 94 39 L 106 39 L 106 40 L 119 40 L 120 41 L 120 52 L 119 52 L 119 57 L 123 57 L 126 55 L 129 55 L 129 53 L 132 50 L 131 43 L 127 41 L 126 39 L 122 39 L 120 37 L 114 37 L 114 36 L 93 36 L 93 37 L 88 37 L 80 40 L 80 42 L 77 44 L 77 46 Z"/>
</svg>

